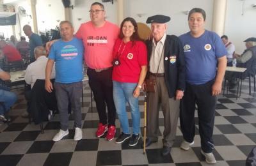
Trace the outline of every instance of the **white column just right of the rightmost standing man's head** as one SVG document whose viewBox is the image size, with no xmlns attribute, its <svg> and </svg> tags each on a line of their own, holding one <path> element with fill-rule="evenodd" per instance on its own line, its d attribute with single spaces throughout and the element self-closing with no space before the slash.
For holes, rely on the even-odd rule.
<svg viewBox="0 0 256 166">
<path fill-rule="evenodd" d="M 214 0 L 212 31 L 220 36 L 224 34 L 227 0 Z"/>
</svg>

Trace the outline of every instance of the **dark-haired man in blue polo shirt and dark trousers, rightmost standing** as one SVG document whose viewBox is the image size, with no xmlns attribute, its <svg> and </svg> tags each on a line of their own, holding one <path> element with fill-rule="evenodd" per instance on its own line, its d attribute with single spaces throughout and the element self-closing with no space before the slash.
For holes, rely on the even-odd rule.
<svg viewBox="0 0 256 166">
<path fill-rule="evenodd" d="M 204 29 L 205 17 L 201 8 L 189 11 L 190 31 L 180 36 L 186 61 L 186 90 L 180 103 L 180 127 L 184 140 L 180 148 L 188 150 L 194 144 L 196 104 L 201 153 L 207 163 L 216 163 L 212 154 L 212 133 L 216 96 L 221 93 L 227 51 L 218 34 Z"/>
</svg>

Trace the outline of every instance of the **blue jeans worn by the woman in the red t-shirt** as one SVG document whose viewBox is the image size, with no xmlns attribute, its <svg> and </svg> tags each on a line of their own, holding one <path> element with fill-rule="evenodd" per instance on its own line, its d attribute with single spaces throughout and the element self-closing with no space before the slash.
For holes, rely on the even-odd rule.
<svg viewBox="0 0 256 166">
<path fill-rule="evenodd" d="M 126 102 L 128 102 L 132 114 L 132 133 L 138 135 L 140 133 L 139 100 L 133 96 L 136 86 L 136 83 L 116 82 L 113 80 L 113 98 L 122 131 L 124 133 L 130 133 L 125 106 Z"/>
</svg>

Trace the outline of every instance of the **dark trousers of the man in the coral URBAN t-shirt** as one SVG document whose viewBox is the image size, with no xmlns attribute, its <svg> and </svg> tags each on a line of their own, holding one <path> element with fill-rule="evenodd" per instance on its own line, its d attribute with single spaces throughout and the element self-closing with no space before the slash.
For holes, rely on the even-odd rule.
<svg viewBox="0 0 256 166">
<path fill-rule="evenodd" d="M 113 100 L 112 68 L 96 72 L 88 68 L 89 86 L 93 91 L 94 100 L 99 114 L 100 123 L 115 126 L 116 109 Z M 108 117 L 106 114 L 108 107 Z M 108 122 L 107 122 L 108 121 Z"/>
</svg>

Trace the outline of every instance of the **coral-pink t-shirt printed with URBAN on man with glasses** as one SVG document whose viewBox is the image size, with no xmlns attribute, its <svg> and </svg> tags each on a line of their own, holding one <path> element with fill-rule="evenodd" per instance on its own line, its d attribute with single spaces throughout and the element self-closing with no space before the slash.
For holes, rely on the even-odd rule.
<svg viewBox="0 0 256 166">
<path fill-rule="evenodd" d="M 84 59 L 89 68 L 109 68 L 112 66 L 112 51 L 119 27 L 106 21 L 104 26 L 95 27 L 92 21 L 79 27 L 76 37 L 83 40 Z"/>
</svg>

